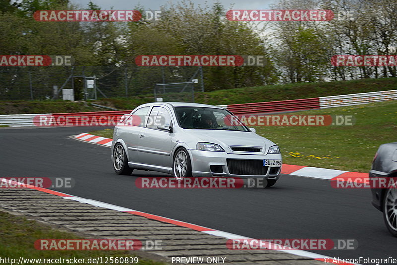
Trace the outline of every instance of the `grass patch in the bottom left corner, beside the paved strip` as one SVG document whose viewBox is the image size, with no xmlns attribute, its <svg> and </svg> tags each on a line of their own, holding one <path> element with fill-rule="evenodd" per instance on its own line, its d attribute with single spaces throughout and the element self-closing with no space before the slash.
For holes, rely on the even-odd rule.
<svg viewBox="0 0 397 265">
<path fill-rule="evenodd" d="M 42 251 L 34 248 L 37 239 L 81 239 L 73 233 L 53 229 L 25 217 L 0 211 L 0 253 L 1 257 L 14 258 L 85 258 L 90 257 L 133 257 L 128 251 Z M 33 263 L 23 263 L 33 264 Z M 52 263 L 68 264 L 68 263 Z M 87 263 L 84 263 L 87 264 Z M 122 264 L 122 263 L 113 263 Z M 164 263 L 143 260 L 140 265 L 164 265 Z"/>
</svg>

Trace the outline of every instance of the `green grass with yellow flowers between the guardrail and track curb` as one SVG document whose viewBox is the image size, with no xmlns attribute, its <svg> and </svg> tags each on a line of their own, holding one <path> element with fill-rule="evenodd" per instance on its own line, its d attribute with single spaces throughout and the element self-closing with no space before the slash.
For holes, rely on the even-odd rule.
<svg viewBox="0 0 397 265">
<path fill-rule="evenodd" d="M 256 126 L 259 135 L 280 146 L 284 164 L 368 172 L 379 145 L 397 141 L 396 100 L 296 114 L 352 115 L 356 122 L 351 126 Z M 90 134 L 112 138 L 113 130 Z"/>
</svg>

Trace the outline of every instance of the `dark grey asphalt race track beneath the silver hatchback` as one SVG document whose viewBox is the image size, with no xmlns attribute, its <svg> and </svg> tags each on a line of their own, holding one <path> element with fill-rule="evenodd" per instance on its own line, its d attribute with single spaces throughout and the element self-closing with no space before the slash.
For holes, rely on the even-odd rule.
<svg viewBox="0 0 397 265">
<path fill-rule="evenodd" d="M 397 238 L 371 204 L 369 189 L 334 189 L 328 180 L 282 175 L 268 189 L 139 189 L 116 175 L 110 148 L 71 139 L 101 128 L 1 128 L 0 177 L 74 178 L 71 195 L 252 238 L 356 239 L 356 250 L 312 251 L 339 258 L 397 259 Z"/>
</svg>

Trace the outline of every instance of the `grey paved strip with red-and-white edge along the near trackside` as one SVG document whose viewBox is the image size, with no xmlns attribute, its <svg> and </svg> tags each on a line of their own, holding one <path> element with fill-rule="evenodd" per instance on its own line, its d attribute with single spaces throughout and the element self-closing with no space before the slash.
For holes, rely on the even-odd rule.
<svg viewBox="0 0 397 265">
<path fill-rule="evenodd" d="M 21 185 L 3 178 L 0 181 Z M 227 239 L 249 238 L 32 185 L 24 187 L 0 189 L 0 207 L 89 236 L 142 242 L 162 240 L 161 250 L 145 251 L 165 258 L 166 262 L 172 257 L 193 256 L 224 257 L 225 263 L 233 265 L 321 265 L 333 259 L 295 249 L 230 250 Z"/>
</svg>

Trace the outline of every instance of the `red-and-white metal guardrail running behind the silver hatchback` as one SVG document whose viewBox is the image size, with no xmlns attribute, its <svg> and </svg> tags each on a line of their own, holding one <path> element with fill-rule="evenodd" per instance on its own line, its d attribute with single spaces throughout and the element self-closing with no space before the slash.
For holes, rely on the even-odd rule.
<svg viewBox="0 0 397 265">
<path fill-rule="evenodd" d="M 249 113 L 270 113 L 270 112 L 288 112 L 301 111 L 310 109 L 323 109 L 331 107 L 351 106 L 366 104 L 371 102 L 379 102 L 386 100 L 396 100 L 397 90 L 349 94 L 319 98 L 293 99 L 284 101 L 257 102 L 233 105 L 219 105 L 226 108 L 234 114 Z M 45 114 L 11 114 L 0 115 L 0 125 L 8 125 L 11 127 L 19 126 L 37 126 L 35 118 L 38 116 L 52 116 L 54 119 L 58 117 L 69 116 L 69 122 L 76 123 L 79 116 L 103 117 L 115 119 L 115 116 L 121 117 L 131 111 L 98 111 L 98 112 L 77 112 L 77 113 L 45 113 Z M 91 121 L 92 119 L 90 119 Z"/>
</svg>

